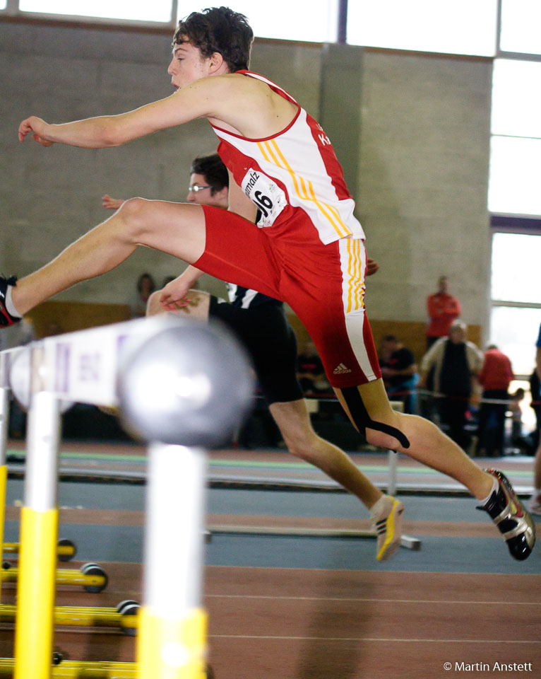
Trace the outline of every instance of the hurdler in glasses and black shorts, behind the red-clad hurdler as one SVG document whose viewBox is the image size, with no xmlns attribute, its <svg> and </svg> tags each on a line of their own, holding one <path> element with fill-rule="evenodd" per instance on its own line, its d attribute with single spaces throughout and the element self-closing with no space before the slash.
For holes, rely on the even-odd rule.
<svg viewBox="0 0 541 679">
<path fill-rule="evenodd" d="M 189 202 L 227 210 L 228 186 L 227 168 L 218 153 L 194 159 Z M 118 209 L 124 203 L 124 199 L 108 195 L 102 201 L 109 209 Z M 370 272 L 376 270 L 376 262 L 371 260 Z M 179 304 L 178 313 L 187 313 L 196 320 L 206 321 L 209 316 L 219 318 L 239 337 L 251 355 L 261 390 L 290 453 L 319 467 L 367 506 L 377 532 L 376 558 L 386 561 L 400 546 L 404 506 L 395 498 L 384 495 L 344 451 L 321 439 L 311 426 L 295 374 L 297 340 L 287 321 L 283 302 L 234 284 L 227 284 L 230 303 L 207 292 L 190 289 L 202 273 L 189 266 L 177 279 L 186 281 L 185 298 Z M 148 315 L 166 311 L 160 304 L 161 294 L 156 291 L 148 298 Z"/>
</svg>

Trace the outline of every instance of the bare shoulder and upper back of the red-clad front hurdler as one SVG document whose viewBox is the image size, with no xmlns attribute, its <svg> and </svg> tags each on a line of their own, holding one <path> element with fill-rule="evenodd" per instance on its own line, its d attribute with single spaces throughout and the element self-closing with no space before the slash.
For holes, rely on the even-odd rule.
<svg viewBox="0 0 541 679">
<path fill-rule="evenodd" d="M 239 73 L 215 76 L 213 80 L 220 103 L 216 115 L 208 116 L 208 120 L 217 127 L 261 139 L 283 130 L 297 114 L 297 105 L 261 80 Z"/>
</svg>

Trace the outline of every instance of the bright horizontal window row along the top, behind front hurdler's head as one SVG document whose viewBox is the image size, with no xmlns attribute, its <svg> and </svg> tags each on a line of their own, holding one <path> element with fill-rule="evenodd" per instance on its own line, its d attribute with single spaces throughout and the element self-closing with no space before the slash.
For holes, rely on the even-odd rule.
<svg viewBox="0 0 541 679">
<path fill-rule="evenodd" d="M 502 0 L 232 0 L 256 37 L 391 47 L 449 54 L 496 54 Z M 9 13 L 165 23 L 220 3 L 197 0 L 11 0 Z M 0 12 L 7 11 L 0 0 Z M 347 7 L 347 12 L 345 11 Z M 340 24 L 340 37 L 338 25 Z"/>
</svg>

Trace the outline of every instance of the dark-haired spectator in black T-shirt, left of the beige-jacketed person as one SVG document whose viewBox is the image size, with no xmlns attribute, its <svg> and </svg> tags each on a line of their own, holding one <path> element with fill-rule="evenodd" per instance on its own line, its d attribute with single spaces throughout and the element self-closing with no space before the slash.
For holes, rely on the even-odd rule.
<svg viewBox="0 0 541 679">
<path fill-rule="evenodd" d="M 379 348 L 381 376 L 390 400 L 402 401 L 404 412 L 417 412 L 415 356 L 394 335 L 385 335 Z"/>
</svg>

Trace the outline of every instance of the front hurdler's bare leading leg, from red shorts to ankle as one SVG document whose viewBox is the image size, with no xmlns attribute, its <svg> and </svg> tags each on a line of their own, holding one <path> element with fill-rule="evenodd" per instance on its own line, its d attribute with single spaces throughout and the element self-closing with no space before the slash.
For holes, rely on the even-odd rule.
<svg viewBox="0 0 541 679">
<path fill-rule="evenodd" d="M 162 250 L 192 263 L 205 249 L 205 217 L 198 205 L 132 198 L 12 290 L 20 315 L 58 292 L 104 274 L 138 245 Z"/>
</svg>

